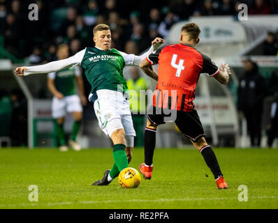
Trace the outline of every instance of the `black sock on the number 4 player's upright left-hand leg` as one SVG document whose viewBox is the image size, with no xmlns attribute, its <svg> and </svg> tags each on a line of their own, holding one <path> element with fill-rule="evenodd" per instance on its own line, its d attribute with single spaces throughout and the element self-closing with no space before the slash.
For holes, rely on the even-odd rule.
<svg viewBox="0 0 278 223">
<path fill-rule="evenodd" d="M 154 148 L 156 143 L 156 130 L 150 128 L 145 129 L 144 146 L 145 146 L 145 164 L 152 165 L 152 157 L 154 157 Z"/>
</svg>

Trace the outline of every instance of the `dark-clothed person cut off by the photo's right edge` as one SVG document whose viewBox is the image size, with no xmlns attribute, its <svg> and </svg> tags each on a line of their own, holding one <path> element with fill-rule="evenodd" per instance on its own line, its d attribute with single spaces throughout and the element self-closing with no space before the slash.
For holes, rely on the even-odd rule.
<svg viewBox="0 0 278 223">
<path fill-rule="evenodd" d="M 270 112 L 270 130 L 268 131 L 268 146 L 272 147 L 273 141 L 278 133 L 278 70 L 272 72 L 270 77 L 269 93 L 272 96 L 272 105 Z"/>
</svg>

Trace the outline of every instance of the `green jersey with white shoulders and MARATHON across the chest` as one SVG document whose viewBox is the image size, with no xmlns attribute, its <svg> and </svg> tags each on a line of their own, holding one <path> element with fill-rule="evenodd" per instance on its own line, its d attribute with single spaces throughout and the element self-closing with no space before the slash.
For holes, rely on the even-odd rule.
<svg viewBox="0 0 278 223">
<path fill-rule="evenodd" d="M 86 47 L 69 58 L 74 66 L 82 66 L 91 93 L 101 89 L 112 91 L 127 91 L 126 80 L 123 76 L 124 66 L 132 66 L 134 54 L 125 54 L 117 49 L 104 51 L 97 47 Z"/>
</svg>

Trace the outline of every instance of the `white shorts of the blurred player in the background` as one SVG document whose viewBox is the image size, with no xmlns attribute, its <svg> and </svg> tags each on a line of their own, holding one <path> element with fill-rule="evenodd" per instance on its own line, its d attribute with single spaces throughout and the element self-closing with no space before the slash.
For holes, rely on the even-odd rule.
<svg viewBox="0 0 278 223">
<path fill-rule="evenodd" d="M 78 95 L 65 96 L 61 100 L 56 97 L 53 98 L 52 117 L 64 117 L 66 112 L 82 112 L 82 105 Z"/>
</svg>

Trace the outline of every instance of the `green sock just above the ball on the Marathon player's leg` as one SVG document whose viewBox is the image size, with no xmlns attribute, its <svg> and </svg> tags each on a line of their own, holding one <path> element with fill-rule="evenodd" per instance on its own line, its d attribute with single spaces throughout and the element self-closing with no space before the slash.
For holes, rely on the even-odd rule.
<svg viewBox="0 0 278 223">
<path fill-rule="evenodd" d="M 113 146 L 113 157 L 119 172 L 124 168 L 129 167 L 129 162 L 126 156 L 126 146 L 124 144 L 115 144 Z"/>
</svg>

